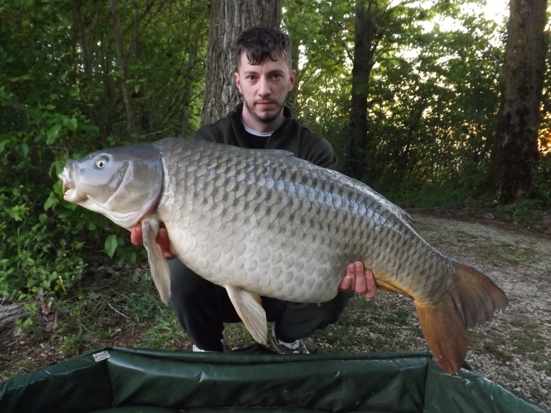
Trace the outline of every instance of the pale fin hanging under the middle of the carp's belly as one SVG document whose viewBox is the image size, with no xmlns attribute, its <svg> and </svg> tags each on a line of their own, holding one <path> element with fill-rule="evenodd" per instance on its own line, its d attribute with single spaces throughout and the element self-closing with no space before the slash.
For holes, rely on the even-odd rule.
<svg viewBox="0 0 551 413">
<path fill-rule="evenodd" d="M 266 313 L 258 294 L 249 293 L 242 288 L 225 285 L 231 304 L 245 323 L 245 327 L 258 343 L 266 344 L 268 332 Z"/>
</svg>

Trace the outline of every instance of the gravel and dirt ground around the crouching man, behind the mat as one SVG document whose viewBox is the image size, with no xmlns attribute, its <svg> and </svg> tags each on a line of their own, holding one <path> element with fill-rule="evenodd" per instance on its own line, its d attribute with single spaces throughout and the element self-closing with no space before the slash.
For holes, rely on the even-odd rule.
<svg viewBox="0 0 551 413">
<path fill-rule="evenodd" d="M 486 273 L 508 296 L 505 313 L 470 329 L 467 362 L 517 396 L 551 411 L 551 235 L 492 217 L 421 210 L 410 213 L 430 244 Z M 136 273 L 132 268 L 127 271 Z M 99 296 L 94 297 L 100 300 Z M 366 301 L 363 297 L 351 300 L 348 313 L 342 316 L 348 321 L 314 335 L 306 341 L 307 346 L 329 352 L 426 350 L 410 300 L 377 293 L 374 300 Z M 132 324 L 122 304 L 106 299 L 105 305 L 113 310 L 107 322 L 112 334 L 86 343 L 84 350 L 107 344 L 143 345 L 140 339 L 147 326 Z M 48 308 L 42 310 L 48 315 Z M 361 322 L 355 323 L 355 319 Z M 167 324 L 177 328 L 174 317 Z M 56 344 L 65 339 L 63 332 L 55 329 L 55 317 L 50 314 L 49 321 L 43 317 L 43 324 L 28 332 L 1 330 L 0 380 L 67 358 L 67 352 L 60 352 Z M 174 348 L 189 349 L 189 339 L 178 334 Z M 242 332 L 229 329 L 227 340 L 233 340 L 233 345 L 248 344 L 240 335 Z M 355 339 L 335 339 L 339 335 Z"/>
</svg>

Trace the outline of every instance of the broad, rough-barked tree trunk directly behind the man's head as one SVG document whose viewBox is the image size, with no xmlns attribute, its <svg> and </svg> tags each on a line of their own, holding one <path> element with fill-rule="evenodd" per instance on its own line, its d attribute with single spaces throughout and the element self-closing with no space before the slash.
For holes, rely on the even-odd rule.
<svg viewBox="0 0 551 413">
<path fill-rule="evenodd" d="M 239 102 L 233 81 L 236 40 L 255 25 L 279 28 L 281 0 L 212 0 L 201 125 L 226 116 Z"/>
</svg>

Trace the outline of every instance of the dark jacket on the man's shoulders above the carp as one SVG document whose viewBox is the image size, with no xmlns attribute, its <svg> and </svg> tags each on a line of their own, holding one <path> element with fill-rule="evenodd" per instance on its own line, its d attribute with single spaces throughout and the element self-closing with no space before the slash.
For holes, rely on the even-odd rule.
<svg viewBox="0 0 551 413">
<path fill-rule="evenodd" d="M 243 104 L 240 103 L 225 118 L 198 129 L 191 138 L 248 148 L 247 138 L 245 138 L 247 131 L 241 121 L 242 110 Z M 297 158 L 308 160 L 319 167 L 335 169 L 337 156 L 331 144 L 299 120 L 291 118 L 291 110 L 287 106 L 283 107 L 283 114 L 285 116 L 283 125 L 273 131 L 266 149 L 284 149 L 292 152 Z"/>
</svg>

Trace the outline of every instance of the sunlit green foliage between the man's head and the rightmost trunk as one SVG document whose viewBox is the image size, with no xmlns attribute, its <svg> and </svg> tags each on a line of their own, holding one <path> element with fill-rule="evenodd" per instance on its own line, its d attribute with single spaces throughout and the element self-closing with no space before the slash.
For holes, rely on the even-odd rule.
<svg viewBox="0 0 551 413">
<path fill-rule="evenodd" d="M 503 28 L 460 3 L 369 0 L 381 28 L 368 88 L 367 173 L 408 207 L 460 206 L 481 191 L 499 96 Z M 355 4 L 284 1 L 283 26 L 298 43 L 298 117 L 346 164 Z M 378 11 L 377 11 L 378 10 Z M 440 17 L 457 28 L 425 21 Z"/>
</svg>

